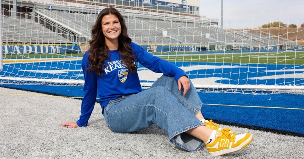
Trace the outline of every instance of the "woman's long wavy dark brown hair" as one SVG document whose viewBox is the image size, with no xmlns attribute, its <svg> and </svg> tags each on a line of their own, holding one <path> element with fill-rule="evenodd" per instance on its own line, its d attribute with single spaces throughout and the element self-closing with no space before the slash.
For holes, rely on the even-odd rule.
<svg viewBox="0 0 304 159">
<path fill-rule="evenodd" d="M 121 25 L 121 34 L 118 36 L 118 52 L 122 57 L 122 63 L 127 66 L 131 73 L 134 73 L 137 66 L 135 65 L 136 55 L 130 47 L 131 38 L 129 38 L 127 34 L 127 27 L 123 16 L 119 11 L 112 7 L 103 9 L 92 27 L 92 39 L 89 41 L 89 62 L 91 66 L 88 67 L 88 70 L 90 73 L 95 71 L 97 75 L 103 75 L 102 70 L 106 67 L 105 60 L 109 57 L 107 54 L 105 36 L 102 34 L 101 20 L 105 15 L 109 14 L 116 15 Z"/>
</svg>

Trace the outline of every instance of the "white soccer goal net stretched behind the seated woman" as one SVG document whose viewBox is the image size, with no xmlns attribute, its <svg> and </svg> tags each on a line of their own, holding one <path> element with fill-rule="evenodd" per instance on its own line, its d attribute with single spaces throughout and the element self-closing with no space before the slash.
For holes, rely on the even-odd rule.
<svg viewBox="0 0 304 159">
<path fill-rule="evenodd" d="M 115 7 L 132 41 L 182 68 L 198 91 L 304 94 L 303 12 L 272 14 L 303 3 L 264 12 L 269 3 L 240 3 L 208 17 L 200 11 L 214 8 L 200 0 L 171 1 L 1 0 L 0 84 L 82 86 L 91 27 L 102 9 Z M 143 88 L 161 76 L 138 65 Z"/>
</svg>

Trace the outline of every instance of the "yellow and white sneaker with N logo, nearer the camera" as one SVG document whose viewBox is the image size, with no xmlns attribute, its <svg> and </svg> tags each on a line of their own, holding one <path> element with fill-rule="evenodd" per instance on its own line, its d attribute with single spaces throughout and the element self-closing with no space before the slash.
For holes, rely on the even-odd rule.
<svg viewBox="0 0 304 159">
<path fill-rule="evenodd" d="M 253 139 L 250 133 L 231 133 L 231 129 L 217 130 L 215 140 L 206 144 L 206 148 L 212 156 L 220 156 L 238 151 L 247 146 Z"/>
</svg>

